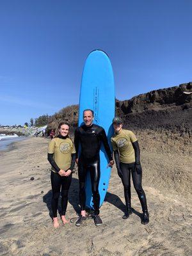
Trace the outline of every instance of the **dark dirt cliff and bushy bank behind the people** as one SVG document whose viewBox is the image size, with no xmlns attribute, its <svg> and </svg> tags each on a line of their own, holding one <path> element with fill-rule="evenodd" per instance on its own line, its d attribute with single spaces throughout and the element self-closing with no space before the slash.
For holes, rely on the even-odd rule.
<svg viewBox="0 0 192 256">
<path fill-rule="evenodd" d="M 192 83 L 140 94 L 130 100 L 116 100 L 116 115 L 124 120 L 124 127 L 142 130 L 166 130 L 191 136 Z M 61 121 L 77 126 L 78 105 L 61 109 L 51 117 L 48 128 L 56 128 Z"/>
</svg>

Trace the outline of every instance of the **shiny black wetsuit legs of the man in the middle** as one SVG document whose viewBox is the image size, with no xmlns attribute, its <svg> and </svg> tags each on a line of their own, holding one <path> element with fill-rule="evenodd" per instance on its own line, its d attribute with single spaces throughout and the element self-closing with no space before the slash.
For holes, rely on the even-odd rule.
<svg viewBox="0 0 192 256">
<path fill-rule="evenodd" d="M 93 193 L 93 206 L 95 214 L 99 214 L 100 195 L 99 195 L 99 179 L 100 179 L 100 160 L 99 157 L 90 161 L 83 158 L 79 158 L 79 201 L 81 205 L 81 211 L 84 211 L 86 204 L 85 194 L 85 182 L 87 172 L 90 172 L 90 178 L 92 182 L 92 193 Z"/>
</svg>

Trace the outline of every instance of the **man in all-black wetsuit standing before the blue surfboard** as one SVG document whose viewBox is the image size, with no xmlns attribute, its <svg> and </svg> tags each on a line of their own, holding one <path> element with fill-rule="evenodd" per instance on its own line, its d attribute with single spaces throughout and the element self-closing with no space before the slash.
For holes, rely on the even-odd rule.
<svg viewBox="0 0 192 256">
<path fill-rule="evenodd" d="M 78 164 L 79 175 L 79 201 L 81 205 L 81 215 L 76 221 L 76 226 L 86 220 L 85 203 L 85 181 L 86 173 L 90 170 L 90 177 L 92 182 L 93 193 L 93 206 L 94 215 L 93 219 L 96 226 L 102 225 L 102 220 L 99 216 L 99 179 L 100 179 L 100 158 L 99 151 L 101 143 L 103 143 L 106 154 L 109 158 L 108 166 L 112 167 L 114 164 L 111 150 L 108 143 L 106 132 L 99 125 L 93 124 L 94 113 L 91 109 L 83 111 L 84 124 L 76 129 L 74 143 L 76 147 L 76 163 Z M 78 158 L 79 145 L 81 145 L 81 154 Z"/>
</svg>

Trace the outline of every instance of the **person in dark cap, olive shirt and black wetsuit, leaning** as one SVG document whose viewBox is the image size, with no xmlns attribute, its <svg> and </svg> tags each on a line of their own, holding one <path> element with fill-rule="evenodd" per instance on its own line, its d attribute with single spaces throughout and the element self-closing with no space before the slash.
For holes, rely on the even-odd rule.
<svg viewBox="0 0 192 256">
<path fill-rule="evenodd" d="M 145 192 L 141 186 L 142 168 L 140 162 L 140 147 L 138 139 L 132 131 L 122 129 L 123 121 L 120 117 L 113 118 L 113 127 L 115 135 L 111 138 L 113 146 L 116 168 L 120 179 L 124 185 L 124 195 L 126 212 L 123 219 L 129 218 L 131 211 L 131 175 L 134 188 L 140 199 L 143 215 L 142 224 L 147 224 L 148 210 Z"/>
</svg>

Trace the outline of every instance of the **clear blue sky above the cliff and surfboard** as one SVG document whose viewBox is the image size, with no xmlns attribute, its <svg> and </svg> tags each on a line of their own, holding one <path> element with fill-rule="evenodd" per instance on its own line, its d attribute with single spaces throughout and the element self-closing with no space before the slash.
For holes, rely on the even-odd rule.
<svg viewBox="0 0 192 256">
<path fill-rule="evenodd" d="M 120 100 L 192 81 L 191 13 L 191 0 L 1 0 L 0 124 L 77 104 L 94 49 Z"/>
</svg>

